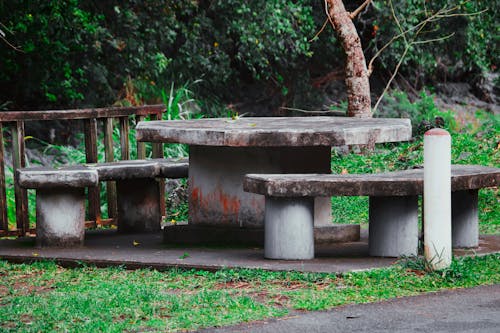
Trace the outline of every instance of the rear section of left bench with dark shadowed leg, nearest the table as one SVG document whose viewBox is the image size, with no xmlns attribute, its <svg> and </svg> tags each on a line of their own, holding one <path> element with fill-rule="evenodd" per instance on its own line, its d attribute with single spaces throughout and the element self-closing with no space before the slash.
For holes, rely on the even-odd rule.
<svg viewBox="0 0 500 333">
<path fill-rule="evenodd" d="M 88 164 L 100 181 L 116 181 L 119 232 L 161 229 L 160 189 L 156 178 L 185 178 L 186 160 L 126 160 Z"/>
</svg>

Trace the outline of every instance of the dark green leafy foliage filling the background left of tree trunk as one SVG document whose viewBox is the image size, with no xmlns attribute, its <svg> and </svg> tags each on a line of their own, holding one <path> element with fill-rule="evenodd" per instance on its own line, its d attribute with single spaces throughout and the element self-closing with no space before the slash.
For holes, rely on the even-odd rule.
<svg viewBox="0 0 500 333">
<path fill-rule="evenodd" d="M 0 12 L 22 50 L 0 48 L 0 100 L 36 108 L 109 105 L 127 78 L 165 86 L 202 77 L 207 95 L 272 80 L 285 93 L 315 29 L 306 0 L 22 0 L 1 1 Z"/>
</svg>

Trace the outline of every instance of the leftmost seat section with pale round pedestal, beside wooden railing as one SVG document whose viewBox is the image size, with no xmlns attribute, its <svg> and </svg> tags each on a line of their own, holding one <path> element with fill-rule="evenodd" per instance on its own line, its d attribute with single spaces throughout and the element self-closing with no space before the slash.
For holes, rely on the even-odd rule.
<svg viewBox="0 0 500 333">
<path fill-rule="evenodd" d="M 25 168 L 16 177 L 21 187 L 36 189 L 37 246 L 82 246 L 85 187 L 97 186 L 97 172 L 81 166 Z"/>
</svg>

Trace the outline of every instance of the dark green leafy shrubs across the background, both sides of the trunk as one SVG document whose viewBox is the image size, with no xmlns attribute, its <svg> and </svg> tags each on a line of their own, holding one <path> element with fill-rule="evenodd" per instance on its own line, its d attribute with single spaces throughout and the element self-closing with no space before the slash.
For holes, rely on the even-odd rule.
<svg viewBox="0 0 500 333">
<path fill-rule="evenodd" d="M 345 3 L 351 10 L 361 2 Z M 407 29 L 453 3 L 394 0 L 394 7 Z M 388 1 L 374 4 L 356 20 L 368 58 L 398 33 Z M 312 0 L 0 0 L 0 29 L 22 50 L 0 44 L 0 103 L 104 106 L 129 94 L 131 85 L 151 101 L 171 82 L 202 79 L 196 85 L 202 98 L 235 102 L 250 94 L 253 100 L 277 96 L 277 105 L 311 105 L 321 94 L 311 79 L 343 63 L 331 28 L 310 41 L 325 22 L 322 5 Z M 401 73 L 425 83 L 459 71 L 492 70 L 496 5 L 498 0 L 460 3 L 463 13 L 488 10 L 430 25 L 426 38 L 455 36 L 413 47 Z M 394 43 L 376 70 L 392 71 L 403 47 L 401 40 Z"/>
</svg>

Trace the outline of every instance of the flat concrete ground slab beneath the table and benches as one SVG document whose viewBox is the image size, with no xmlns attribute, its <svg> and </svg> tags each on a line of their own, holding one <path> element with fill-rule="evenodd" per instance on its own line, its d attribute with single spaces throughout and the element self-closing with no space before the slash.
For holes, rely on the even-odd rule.
<svg viewBox="0 0 500 333">
<path fill-rule="evenodd" d="M 161 233 L 120 234 L 115 230 L 89 231 L 81 248 L 38 248 L 34 238 L 1 239 L 0 259 L 13 262 L 54 260 L 62 265 L 80 263 L 97 266 L 122 265 L 127 268 L 170 267 L 217 270 L 220 268 L 260 268 L 266 270 L 295 270 L 307 272 L 340 273 L 386 267 L 395 258 L 368 256 L 366 231 L 361 241 L 321 245 L 316 247 L 312 260 L 264 259 L 259 247 L 193 247 L 167 246 Z M 500 235 L 482 236 L 480 247 L 460 250 L 459 255 L 500 252 Z"/>
</svg>

